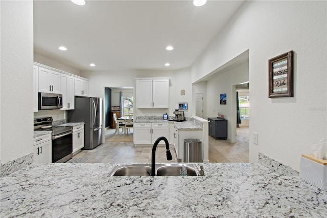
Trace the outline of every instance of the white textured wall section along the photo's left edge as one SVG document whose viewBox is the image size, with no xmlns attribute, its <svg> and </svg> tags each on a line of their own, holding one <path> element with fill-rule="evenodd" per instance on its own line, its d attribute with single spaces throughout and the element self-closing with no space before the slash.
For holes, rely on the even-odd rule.
<svg viewBox="0 0 327 218">
<path fill-rule="evenodd" d="M 1 1 L 2 164 L 33 152 L 33 1 Z"/>
</svg>

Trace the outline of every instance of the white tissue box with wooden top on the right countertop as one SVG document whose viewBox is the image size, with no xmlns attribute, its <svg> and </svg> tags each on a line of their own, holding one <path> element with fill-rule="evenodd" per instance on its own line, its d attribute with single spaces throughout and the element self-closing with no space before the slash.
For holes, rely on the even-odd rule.
<svg viewBox="0 0 327 218">
<path fill-rule="evenodd" d="M 323 191 L 327 191 L 327 160 L 318 159 L 313 154 L 302 155 L 300 178 Z"/>
</svg>

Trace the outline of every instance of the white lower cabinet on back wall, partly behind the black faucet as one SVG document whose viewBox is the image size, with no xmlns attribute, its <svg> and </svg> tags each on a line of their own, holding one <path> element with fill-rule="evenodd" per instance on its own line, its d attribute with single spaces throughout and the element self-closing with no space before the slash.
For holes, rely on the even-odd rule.
<svg viewBox="0 0 327 218">
<path fill-rule="evenodd" d="M 164 136 L 169 140 L 169 123 L 134 123 L 134 144 L 154 144 Z M 159 144 L 164 144 L 160 141 Z"/>
</svg>

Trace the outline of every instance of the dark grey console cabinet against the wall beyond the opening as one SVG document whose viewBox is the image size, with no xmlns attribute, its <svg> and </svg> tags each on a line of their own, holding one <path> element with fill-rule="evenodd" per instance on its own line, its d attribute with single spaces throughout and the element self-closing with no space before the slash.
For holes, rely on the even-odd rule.
<svg viewBox="0 0 327 218">
<path fill-rule="evenodd" d="M 209 135 L 217 139 L 227 139 L 227 120 L 208 117 L 209 121 Z"/>
</svg>

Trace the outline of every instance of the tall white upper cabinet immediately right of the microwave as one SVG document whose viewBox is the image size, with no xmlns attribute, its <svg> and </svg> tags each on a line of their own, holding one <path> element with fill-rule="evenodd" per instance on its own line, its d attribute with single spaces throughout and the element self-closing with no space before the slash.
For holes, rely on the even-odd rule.
<svg viewBox="0 0 327 218">
<path fill-rule="evenodd" d="M 62 94 L 62 108 L 60 110 L 74 110 L 75 108 L 74 79 L 73 76 L 61 74 L 60 91 Z"/>
</svg>

